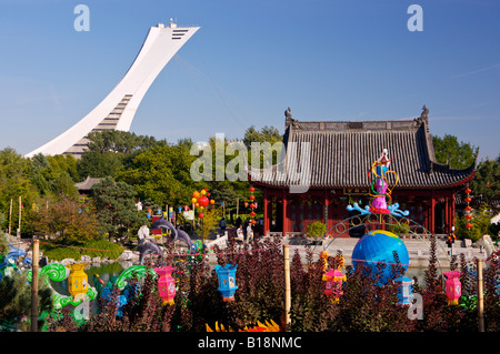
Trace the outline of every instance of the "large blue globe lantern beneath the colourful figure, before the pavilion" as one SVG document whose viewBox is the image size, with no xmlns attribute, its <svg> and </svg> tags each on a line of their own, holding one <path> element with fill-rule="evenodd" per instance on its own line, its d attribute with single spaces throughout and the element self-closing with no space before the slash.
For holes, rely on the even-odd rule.
<svg viewBox="0 0 500 354">
<path fill-rule="evenodd" d="M 378 285 L 384 285 L 391 280 L 391 264 L 394 264 L 393 252 L 398 254 L 400 266 L 406 272 L 410 259 L 404 243 L 392 232 L 373 230 L 359 239 L 356 244 L 351 256 L 352 265 L 356 270 L 362 263 L 373 276 L 377 273 L 377 265 L 382 263 L 384 267 Z"/>
</svg>

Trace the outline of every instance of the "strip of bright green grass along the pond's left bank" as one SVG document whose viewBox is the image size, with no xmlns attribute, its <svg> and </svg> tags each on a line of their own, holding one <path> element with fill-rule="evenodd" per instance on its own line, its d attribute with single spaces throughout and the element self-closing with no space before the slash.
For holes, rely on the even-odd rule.
<svg viewBox="0 0 500 354">
<path fill-rule="evenodd" d="M 108 240 L 93 240 L 69 246 L 40 243 L 40 249 L 43 251 L 43 255 L 51 261 L 62 261 L 63 259 L 74 259 L 76 261 L 79 261 L 82 255 L 89 255 L 91 257 L 108 256 L 110 260 L 116 260 L 124 250 L 119 244 L 111 243 Z"/>
</svg>

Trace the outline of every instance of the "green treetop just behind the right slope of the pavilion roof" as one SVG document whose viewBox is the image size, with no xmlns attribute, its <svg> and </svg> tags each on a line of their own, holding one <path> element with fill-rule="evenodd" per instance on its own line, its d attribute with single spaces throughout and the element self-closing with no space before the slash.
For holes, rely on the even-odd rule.
<svg viewBox="0 0 500 354">
<path fill-rule="evenodd" d="M 457 136 L 446 134 L 443 138 L 432 136 L 436 160 L 449 163 L 453 169 L 466 169 L 474 162 L 479 148 L 470 143 L 459 142 Z"/>
</svg>

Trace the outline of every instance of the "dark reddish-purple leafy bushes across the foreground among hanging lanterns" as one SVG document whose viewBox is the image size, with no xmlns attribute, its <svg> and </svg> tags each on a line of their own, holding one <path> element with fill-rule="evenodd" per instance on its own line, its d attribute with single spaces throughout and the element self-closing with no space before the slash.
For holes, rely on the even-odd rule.
<svg viewBox="0 0 500 354">
<path fill-rule="evenodd" d="M 238 264 L 233 302 L 223 302 L 218 291 L 218 277 L 204 257 L 161 260 L 177 267 L 174 272 L 177 293 L 174 305 L 161 305 L 153 277 L 148 275 L 141 291 L 123 309 L 123 316 L 116 316 L 116 302 L 101 300 L 101 312 L 91 315 L 82 326 L 62 325 L 73 331 L 171 331 L 204 332 L 216 322 L 234 331 L 252 327 L 258 321 L 274 321 L 284 330 L 284 274 L 281 237 L 253 240 L 253 244 L 238 246 L 229 243 L 224 250 L 214 249 L 217 262 Z M 339 265 L 339 256 L 330 256 L 328 266 L 306 249 L 306 262 L 296 250 L 291 259 L 291 331 L 297 332 L 471 332 L 477 331 L 477 309 L 473 306 L 476 279 L 473 262 L 461 256 L 452 257 L 451 269 L 462 272 L 463 299 L 461 305 L 450 306 L 442 289 L 436 257 L 436 240 L 431 239 L 431 256 L 424 284 L 416 283 L 414 293 L 423 301 L 423 318 L 408 318 L 408 307 L 397 305 L 397 284 L 377 285 L 383 264 L 378 265 L 374 279 L 366 276 L 361 266 L 356 271 L 347 266 L 343 294 L 338 303 L 324 295 L 322 275 L 328 267 Z M 316 260 L 317 259 L 317 260 Z M 487 331 L 500 326 L 500 302 L 497 294 L 499 262 L 493 259 L 484 273 L 484 310 Z M 401 273 L 394 255 L 391 265 L 393 277 Z M 114 296 L 118 296 L 116 290 Z M 471 300 L 472 299 L 472 300 Z M 468 305 L 467 302 L 472 305 Z M 51 328 L 61 328 L 59 320 Z M 69 320 L 66 320 L 69 321 Z M 58 326 L 59 325 L 59 326 Z"/>
</svg>

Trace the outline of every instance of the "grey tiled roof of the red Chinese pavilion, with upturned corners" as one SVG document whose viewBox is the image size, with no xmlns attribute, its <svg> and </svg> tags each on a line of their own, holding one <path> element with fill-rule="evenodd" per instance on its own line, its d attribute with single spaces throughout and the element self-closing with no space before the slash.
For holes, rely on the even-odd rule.
<svg viewBox="0 0 500 354">
<path fill-rule="evenodd" d="M 428 110 L 413 120 L 386 121 L 298 121 L 288 111 L 283 143 L 287 154 L 290 143 L 297 143 L 297 161 L 302 158 L 300 146 L 310 143 L 310 188 L 368 188 L 368 171 L 388 149 L 393 159 L 390 170 L 399 175 L 398 188 L 442 189 L 468 182 L 476 173 L 476 161 L 467 169 L 452 169 L 436 161 L 429 132 Z M 253 182 L 268 186 L 290 186 L 297 179 L 292 171 L 286 179 L 277 178 L 277 165 L 269 171 L 249 168 Z M 252 179 L 259 172 L 260 179 Z M 300 171 L 299 171 L 300 172 Z M 393 182 L 392 175 L 388 175 Z M 392 180 L 391 180 L 392 179 Z M 259 181 L 260 180 L 260 181 Z"/>
</svg>

